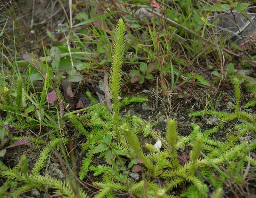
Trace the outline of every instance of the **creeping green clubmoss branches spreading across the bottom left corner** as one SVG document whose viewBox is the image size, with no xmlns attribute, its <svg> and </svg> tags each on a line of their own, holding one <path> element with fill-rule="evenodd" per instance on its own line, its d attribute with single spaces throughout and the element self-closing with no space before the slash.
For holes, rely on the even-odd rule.
<svg viewBox="0 0 256 198">
<path fill-rule="evenodd" d="M 21 163 L 14 168 L 8 168 L 0 161 L 0 176 L 6 178 L 4 184 L 0 187 L 0 197 L 23 197 L 22 194 L 34 188 L 44 190 L 48 188 L 48 192 L 52 195 L 60 194 L 61 197 L 88 197 L 81 188 L 77 188 L 77 194 L 73 189 L 74 185 L 67 181 L 61 181 L 51 176 L 40 174 L 45 166 L 46 159 L 49 157 L 50 148 L 57 146 L 61 139 L 55 139 L 48 146 L 44 147 L 40 152 L 33 169 L 28 171 L 28 161 L 26 156 L 21 157 Z M 73 187 L 71 187 L 73 186 Z M 7 196 L 6 191 L 11 188 L 10 195 Z"/>
</svg>

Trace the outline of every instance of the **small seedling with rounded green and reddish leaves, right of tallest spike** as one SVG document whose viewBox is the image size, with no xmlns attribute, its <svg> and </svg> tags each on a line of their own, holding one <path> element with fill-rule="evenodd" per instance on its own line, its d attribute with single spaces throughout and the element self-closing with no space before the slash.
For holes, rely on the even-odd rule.
<svg viewBox="0 0 256 198">
<path fill-rule="evenodd" d="M 131 83 L 139 82 L 140 84 L 142 84 L 145 78 L 153 79 L 153 75 L 150 73 L 153 72 L 155 68 L 156 68 L 156 63 L 150 63 L 150 64 L 141 63 L 139 71 L 132 70 L 130 72 L 130 76 L 132 77 Z"/>
</svg>

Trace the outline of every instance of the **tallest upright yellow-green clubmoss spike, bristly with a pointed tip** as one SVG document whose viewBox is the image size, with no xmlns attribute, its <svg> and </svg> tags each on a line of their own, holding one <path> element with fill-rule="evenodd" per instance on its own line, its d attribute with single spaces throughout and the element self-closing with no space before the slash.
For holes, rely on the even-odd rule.
<svg viewBox="0 0 256 198">
<path fill-rule="evenodd" d="M 125 24 L 124 20 L 120 19 L 116 25 L 116 31 L 114 36 L 114 49 L 113 49 L 113 60 L 111 64 L 109 88 L 112 96 L 112 108 L 113 108 L 113 123 L 114 131 L 120 139 L 119 131 L 119 101 L 118 95 L 121 93 L 121 75 L 122 65 L 124 59 L 124 33 Z"/>
</svg>

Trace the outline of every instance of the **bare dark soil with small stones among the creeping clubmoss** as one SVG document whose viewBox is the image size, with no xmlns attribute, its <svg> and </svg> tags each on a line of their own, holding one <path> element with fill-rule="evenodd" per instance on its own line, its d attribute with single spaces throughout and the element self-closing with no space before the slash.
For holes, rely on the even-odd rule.
<svg viewBox="0 0 256 198">
<path fill-rule="evenodd" d="M 87 85 L 87 84 L 86 84 Z M 73 87 L 76 87 L 75 84 L 73 84 Z M 78 98 L 81 98 L 85 107 L 86 105 L 89 105 L 88 98 L 84 95 L 84 90 L 86 88 L 84 86 L 80 86 L 80 89 L 77 90 L 76 95 L 78 96 L 75 99 L 75 102 L 78 101 Z M 88 89 L 87 90 L 92 91 Z M 131 87 L 132 90 L 132 87 Z M 133 91 L 133 90 L 132 90 Z M 140 95 L 140 96 L 146 96 L 148 97 L 149 101 L 145 103 L 136 103 L 131 104 L 127 107 L 124 107 L 120 111 L 120 115 L 125 114 L 131 114 L 131 115 L 138 115 L 140 118 L 148 121 L 148 122 L 154 122 L 158 121 L 158 124 L 154 127 L 154 131 L 156 134 L 159 134 L 161 136 L 165 136 L 165 129 L 167 120 L 169 117 L 175 118 L 178 123 L 178 132 L 179 135 L 187 136 L 190 134 L 190 131 L 192 129 L 190 123 L 194 122 L 198 124 L 202 131 L 214 127 L 218 123 L 218 118 L 216 116 L 205 116 L 205 117 L 196 117 L 196 118 L 190 118 L 188 115 L 197 110 L 203 110 L 206 106 L 209 99 L 212 99 L 212 102 L 214 105 L 216 105 L 216 110 L 218 111 L 225 111 L 225 112 L 234 112 L 233 104 L 234 101 L 234 93 L 231 90 L 223 90 L 222 92 L 218 92 L 219 94 L 215 94 L 212 90 L 208 89 L 202 89 L 199 87 L 190 87 L 188 86 L 187 91 L 190 91 L 191 97 L 189 98 L 191 100 L 191 104 L 189 104 L 185 99 L 179 99 L 177 98 L 177 94 L 172 94 L 172 97 L 164 97 L 164 95 L 160 92 L 158 95 L 155 94 L 156 87 L 143 87 L 142 91 L 138 94 L 134 95 Z M 246 96 L 246 92 L 244 92 L 243 96 Z M 123 94 L 124 96 L 127 95 L 127 93 Z M 213 98 L 215 96 L 215 98 Z M 95 95 L 96 97 L 96 95 Z M 156 97 L 158 97 L 158 104 L 156 104 Z M 216 100 L 216 97 L 219 99 Z M 208 98 L 208 100 L 206 100 Z M 247 97 L 242 98 L 242 102 L 240 103 L 240 106 L 243 110 L 246 110 L 252 114 L 255 112 L 255 107 L 244 109 L 243 105 L 244 102 L 247 102 Z M 239 122 L 239 121 L 238 121 Z M 220 140 L 221 142 L 226 141 L 226 133 L 228 129 L 234 125 L 233 123 L 226 123 L 224 125 L 224 130 L 220 131 L 215 135 L 216 139 Z M 86 142 L 86 139 L 84 136 L 77 130 L 74 130 L 74 127 L 71 125 L 70 122 L 65 123 L 64 131 L 66 138 L 69 139 L 69 144 L 67 144 L 68 151 L 71 150 L 71 147 L 69 145 L 72 145 L 72 148 L 74 148 L 73 152 L 71 152 L 70 156 L 73 155 L 74 160 L 71 160 L 72 157 L 68 157 L 69 164 L 72 164 L 73 170 L 75 170 L 77 173 L 80 171 L 80 166 L 82 164 L 82 161 L 84 160 L 85 154 L 81 150 L 81 144 Z M 44 130 L 44 129 L 43 129 Z M 18 131 L 20 135 L 29 135 L 28 131 Z M 42 131 L 42 134 L 44 131 Z M 31 134 L 30 134 L 31 135 Z M 140 139 L 141 145 L 143 147 L 143 151 L 145 153 L 148 153 L 148 151 L 144 148 L 145 143 L 152 143 L 155 144 L 155 140 L 148 137 L 144 137 L 143 135 L 138 135 L 138 138 Z M 252 141 L 253 135 L 249 134 L 248 140 Z M 241 141 L 244 141 L 244 137 L 240 139 Z M 44 138 L 44 141 L 47 142 L 47 138 Z M 36 162 L 38 158 L 38 154 L 40 150 L 45 145 L 36 145 L 35 143 L 31 143 L 28 145 L 23 145 L 19 147 L 13 147 L 8 149 L 7 154 L 2 158 L 2 161 L 5 165 L 7 165 L 10 168 L 13 168 L 15 165 L 17 165 L 20 162 L 20 157 L 22 155 L 26 155 L 28 158 L 29 163 L 29 170 L 32 169 L 33 164 Z M 178 150 L 178 154 L 180 156 L 182 155 L 189 155 L 190 147 L 184 147 L 180 150 Z M 58 152 L 61 158 L 64 158 L 65 156 L 62 156 L 61 152 Z M 251 152 L 251 157 L 255 157 L 255 152 Z M 98 165 L 98 164 L 105 164 L 105 159 L 100 158 L 99 156 L 95 155 L 92 165 Z M 66 169 L 66 167 L 61 167 L 59 158 L 55 154 L 51 154 L 51 157 L 47 159 L 46 167 L 42 170 L 43 174 L 49 174 L 53 177 L 59 178 L 61 180 L 64 180 L 67 176 L 65 175 L 65 171 L 63 171 L 63 168 Z M 249 170 L 250 175 L 255 174 L 256 170 L 253 168 L 250 168 Z M 217 173 L 216 173 L 217 174 Z M 101 180 L 100 177 L 95 177 L 91 172 L 88 173 L 88 178 L 85 179 L 86 182 L 91 183 L 90 179 L 93 181 L 99 181 Z M 141 179 L 141 175 L 140 175 Z M 4 179 L 2 178 L 0 180 L 0 183 L 2 183 Z M 164 183 L 164 181 L 161 181 Z M 254 193 L 254 178 L 250 178 L 249 186 L 252 186 L 250 188 L 250 193 Z M 254 186 L 254 187 L 253 187 Z M 181 187 L 177 189 L 174 189 L 173 192 L 176 192 L 176 194 L 179 194 L 181 191 Z M 183 186 L 184 187 L 184 186 Z M 225 187 L 224 189 L 226 189 Z M 91 188 L 92 192 L 95 191 L 95 189 Z M 226 194 L 230 194 L 229 189 L 227 189 Z M 42 192 L 40 192 L 42 193 Z M 90 193 L 89 193 L 90 194 Z"/>
</svg>

